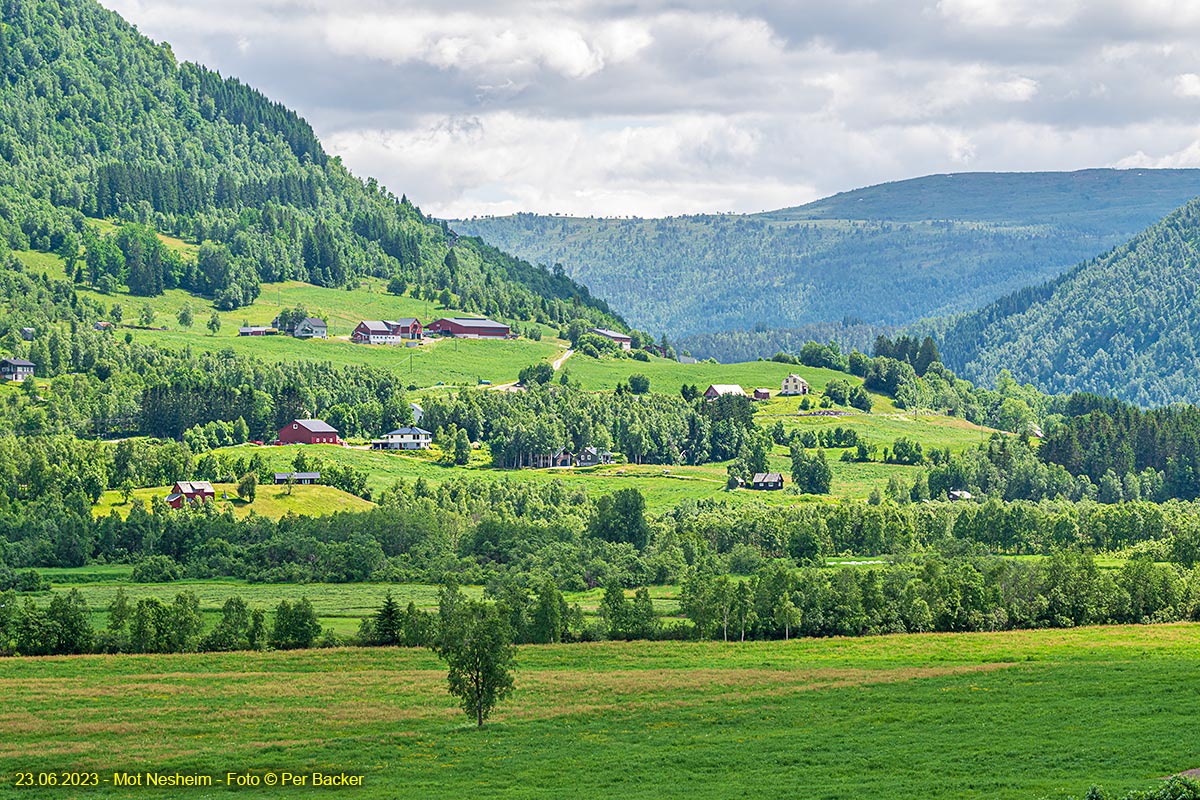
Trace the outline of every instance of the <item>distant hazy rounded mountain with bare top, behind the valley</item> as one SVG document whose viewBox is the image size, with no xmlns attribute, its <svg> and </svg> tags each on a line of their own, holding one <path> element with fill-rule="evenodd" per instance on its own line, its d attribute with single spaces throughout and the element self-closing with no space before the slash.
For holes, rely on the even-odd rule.
<svg viewBox="0 0 1200 800">
<path fill-rule="evenodd" d="M 751 216 L 452 227 L 562 263 L 638 327 L 684 336 L 972 311 L 1128 241 L 1196 194 L 1200 170 L 959 174 Z M 746 355 L 744 342 L 704 344 L 702 355 Z"/>
</svg>

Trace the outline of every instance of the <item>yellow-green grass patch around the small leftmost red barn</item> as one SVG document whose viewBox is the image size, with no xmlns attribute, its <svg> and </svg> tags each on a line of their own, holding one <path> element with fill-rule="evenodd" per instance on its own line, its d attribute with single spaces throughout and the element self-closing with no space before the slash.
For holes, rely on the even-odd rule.
<svg viewBox="0 0 1200 800">
<path fill-rule="evenodd" d="M 217 493 L 217 509 L 223 511 L 226 507 L 230 507 L 238 517 L 246 517 L 251 513 L 272 519 L 278 519 L 288 513 L 322 517 L 338 511 L 364 511 L 373 505 L 332 486 L 293 486 L 292 492 L 288 493 L 286 486 L 263 485 L 258 487 L 253 503 L 238 497 L 235 483 L 214 483 L 212 488 Z M 92 513 L 103 517 L 115 510 L 116 513 L 125 517 L 130 513 L 133 504 L 142 503 L 149 509 L 154 498 L 164 498 L 169 493 L 169 486 L 134 489 L 133 499 L 127 504 L 120 492 L 110 489 L 104 492 L 100 503 L 92 506 Z M 228 499 L 223 498 L 226 493 L 229 495 Z"/>
</svg>

